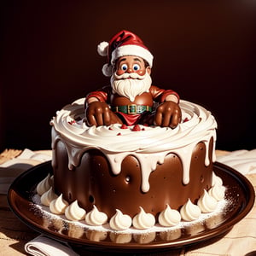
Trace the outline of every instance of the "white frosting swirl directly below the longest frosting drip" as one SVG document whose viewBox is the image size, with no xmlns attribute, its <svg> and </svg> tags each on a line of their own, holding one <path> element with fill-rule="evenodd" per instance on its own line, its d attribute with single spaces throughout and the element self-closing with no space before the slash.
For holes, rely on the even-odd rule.
<svg viewBox="0 0 256 256">
<path fill-rule="evenodd" d="M 138 230 L 146 230 L 154 226 L 155 218 L 151 213 L 146 213 L 143 207 L 140 207 L 140 212 L 132 219 L 132 225 Z"/>
</svg>

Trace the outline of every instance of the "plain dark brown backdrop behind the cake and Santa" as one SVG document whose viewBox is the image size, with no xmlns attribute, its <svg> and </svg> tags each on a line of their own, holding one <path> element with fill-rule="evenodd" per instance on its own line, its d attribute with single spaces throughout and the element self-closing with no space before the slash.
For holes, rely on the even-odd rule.
<svg viewBox="0 0 256 256">
<path fill-rule="evenodd" d="M 108 84 L 96 45 L 121 29 L 153 53 L 155 85 L 211 110 L 218 149 L 256 148 L 255 1 L 91 2 L 1 3 L 1 149 L 50 148 L 55 111 Z"/>
</svg>

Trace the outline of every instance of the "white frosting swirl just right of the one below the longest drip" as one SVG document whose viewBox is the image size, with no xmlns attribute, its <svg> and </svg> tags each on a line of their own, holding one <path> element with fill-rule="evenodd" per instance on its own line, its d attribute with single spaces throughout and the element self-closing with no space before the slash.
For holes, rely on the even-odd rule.
<svg viewBox="0 0 256 256">
<path fill-rule="evenodd" d="M 166 205 L 166 209 L 160 212 L 158 222 L 164 227 L 172 227 L 179 224 L 181 221 L 180 213 L 177 210 L 171 209 L 169 205 Z"/>
</svg>

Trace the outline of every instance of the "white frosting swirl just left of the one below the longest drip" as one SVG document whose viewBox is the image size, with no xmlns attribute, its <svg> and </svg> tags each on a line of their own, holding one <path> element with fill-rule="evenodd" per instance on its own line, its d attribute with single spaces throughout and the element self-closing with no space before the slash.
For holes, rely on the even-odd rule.
<svg viewBox="0 0 256 256">
<path fill-rule="evenodd" d="M 113 230 L 127 230 L 131 227 L 131 217 L 117 209 L 113 217 L 110 218 L 109 225 Z"/>
</svg>

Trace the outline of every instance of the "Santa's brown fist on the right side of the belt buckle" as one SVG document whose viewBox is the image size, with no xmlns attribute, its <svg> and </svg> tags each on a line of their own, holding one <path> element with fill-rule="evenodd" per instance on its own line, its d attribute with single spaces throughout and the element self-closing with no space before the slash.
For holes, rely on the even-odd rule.
<svg viewBox="0 0 256 256">
<path fill-rule="evenodd" d="M 175 128 L 181 121 L 181 109 L 176 102 L 163 102 L 156 109 L 154 125 Z"/>
</svg>

